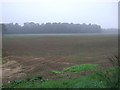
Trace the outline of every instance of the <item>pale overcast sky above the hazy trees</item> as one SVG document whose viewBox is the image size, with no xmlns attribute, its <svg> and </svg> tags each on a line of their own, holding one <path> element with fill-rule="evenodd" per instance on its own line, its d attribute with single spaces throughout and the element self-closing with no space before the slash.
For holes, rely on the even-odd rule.
<svg viewBox="0 0 120 90">
<path fill-rule="evenodd" d="M 92 23 L 102 28 L 118 27 L 117 0 L 4 0 L 0 22 Z"/>
</svg>

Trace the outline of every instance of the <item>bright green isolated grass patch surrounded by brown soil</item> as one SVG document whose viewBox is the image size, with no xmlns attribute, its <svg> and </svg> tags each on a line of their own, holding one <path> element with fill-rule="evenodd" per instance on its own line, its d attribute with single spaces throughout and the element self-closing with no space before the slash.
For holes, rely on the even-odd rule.
<svg viewBox="0 0 120 90">
<path fill-rule="evenodd" d="M 63 71 L 70 71 L 75 73 L 85 72 L 85 71 L 95 71 L 98 69 L 98 65 L 95 64 L 82 64 L 64 68 Z"/>
</svg>

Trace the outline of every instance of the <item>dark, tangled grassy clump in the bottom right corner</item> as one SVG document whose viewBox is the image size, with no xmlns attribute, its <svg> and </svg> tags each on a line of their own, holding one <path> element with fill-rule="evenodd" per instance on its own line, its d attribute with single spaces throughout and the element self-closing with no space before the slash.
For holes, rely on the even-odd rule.
<svg viewBox="0 0 120 90">
<path fill-rule="evenodd" d="M 105 82 L 105 85 L 109 88 L 120 88 L 119 70 L 118 67 L 105 70 L 103 72 L 97 72 L 96 75 L 101 81 Z"/>
</svg>

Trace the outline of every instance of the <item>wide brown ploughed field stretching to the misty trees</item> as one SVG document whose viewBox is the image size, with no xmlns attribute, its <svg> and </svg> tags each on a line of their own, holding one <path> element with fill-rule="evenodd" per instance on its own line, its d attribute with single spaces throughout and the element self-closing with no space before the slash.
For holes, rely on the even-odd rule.
<svg viewBox="0 0 120 90">
<path fill-rule="evenodd" d="M 118 53 L 116 34 L 23 34 L 3 35 L 3 83 L 43 75 L 68 66 L 109 66 L 108 57 Z"/>
</svg>

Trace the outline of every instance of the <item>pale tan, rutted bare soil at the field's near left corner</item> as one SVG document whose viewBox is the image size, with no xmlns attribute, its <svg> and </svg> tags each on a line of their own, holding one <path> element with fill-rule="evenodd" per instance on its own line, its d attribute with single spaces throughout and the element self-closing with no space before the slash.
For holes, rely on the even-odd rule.
<svg viewBox="0 0 120 90">
<path fill-rule="evenodd" d="M 74 65 L 69 63 L 67 59 L 56 57 L 28 57 L 28 56 L 10 56 L 10 60 L 2 66 L 3 83 L 17 79 L 24 79 L 36 75 L 43 75 L 51 78 L 51 70 L 61 70 L 64 67 Z"/>
</svg>

